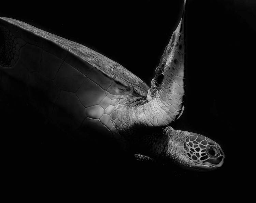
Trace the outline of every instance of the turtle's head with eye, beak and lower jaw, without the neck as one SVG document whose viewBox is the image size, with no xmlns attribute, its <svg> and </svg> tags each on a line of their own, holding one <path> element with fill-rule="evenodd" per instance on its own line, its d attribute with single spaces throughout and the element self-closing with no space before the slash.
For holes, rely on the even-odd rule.
<svg viewBox="0 0 256 203">
<path fill-rule="evenodd" d="M 208 137 L 191 132 L 186 135 L 181 151 L 185 168 L 196 171 L 218 169 L 223 165 L 225 157 L 218 143 Z"/>
</svg>

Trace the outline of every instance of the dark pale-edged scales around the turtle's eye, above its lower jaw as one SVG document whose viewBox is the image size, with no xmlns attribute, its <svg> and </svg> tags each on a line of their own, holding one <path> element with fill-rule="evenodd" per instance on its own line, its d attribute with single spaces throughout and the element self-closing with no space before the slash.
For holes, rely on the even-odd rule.
<svg viewBox="0 0 256 203">
<path fill-rule="evenodd" d="M 216 142 L 196 133 L 186 136 L 184 155 L 193 162 L 212 166 L 222 164 L 224 158 L 224 153 Z"/>
</svg>

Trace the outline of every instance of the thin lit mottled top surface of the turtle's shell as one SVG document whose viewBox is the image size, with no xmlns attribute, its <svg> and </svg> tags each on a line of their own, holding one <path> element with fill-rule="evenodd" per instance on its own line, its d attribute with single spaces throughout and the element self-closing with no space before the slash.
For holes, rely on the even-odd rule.
<svg viewBox="0 0 256 203">
<path fill-rule="evenodd" d="M 81 44 L 67 40 L 65 38 L 56 36 L 54 34 L 45 32 L 38 28 L 35 28 L 27 23 L 18 21 L 11 18 L 0 18 L 3 24 L 7 24 L 9 27 L 17 29 L 18 33 L 21 33 L 22 38 L 29 44 L 37 45 L 43 48 L 62 60 L 66 58 L 66 62 L 71 66 L 79 69 L 80 72 L 85 75 L 93 68 L 97 67 L 100 71 L 105 71 L 113 74 L 115 77 L 119 77 L 127 81 L 128 83 L 138 87 L 141 90 L 141 94 L 146 96 L 146 92 L 149 87 L 136 75 L 131 73 L 129 70 L 121 66 L 120 64 L 112 61 L 110 58 L 97 53 Z M 10 26 L 10 24 L 14 26 Z M 42 42 L 41 38 L 47 39 Z M 56 46 L 58 45 L 58 46 Z M 61 51 L 57 51 L 61 46 Z M 67 54 L 67 55 L 66 55 Z M 75 57 L 75 60 L 74 60 Z M 90 68 L 83 68 L 91 66 Z"/>
</svg>

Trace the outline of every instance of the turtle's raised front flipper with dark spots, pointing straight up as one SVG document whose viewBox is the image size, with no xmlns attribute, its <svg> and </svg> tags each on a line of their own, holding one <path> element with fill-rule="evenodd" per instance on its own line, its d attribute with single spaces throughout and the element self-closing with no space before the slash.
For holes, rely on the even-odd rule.
<svg viewBox="0 0 256 203">
<path fill-rule="evenodd" d="M 171 40 L 163 53 L 159 66 L 156 68 L 156 75 L 152 79 L 151 88 L 148 90 L 147 101 L 151 104 L 153 114 L 161 112 L 161 122 L 158 126 L 167 126 L 181 115 L 184 96 L 184 15 L 183 6 L 182 19 L 173 32 Z"/>
</svg>

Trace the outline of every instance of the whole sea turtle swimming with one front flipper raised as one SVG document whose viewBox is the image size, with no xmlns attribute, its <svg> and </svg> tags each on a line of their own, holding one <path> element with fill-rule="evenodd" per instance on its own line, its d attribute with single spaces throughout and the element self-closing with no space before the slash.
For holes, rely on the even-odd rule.
<svg viewBox="0 0 256 203">
<path fill-rule="evenodd" d="M 1 17 L 1 88 L 37 107 L 75 139 L 111 140 L 139 160 L 217 169 L 224 153 L 216 142 L 170 126 L 184 109 L 185 4 L 151 88 L 94 50 Z"/>
</svg>

